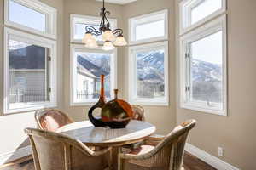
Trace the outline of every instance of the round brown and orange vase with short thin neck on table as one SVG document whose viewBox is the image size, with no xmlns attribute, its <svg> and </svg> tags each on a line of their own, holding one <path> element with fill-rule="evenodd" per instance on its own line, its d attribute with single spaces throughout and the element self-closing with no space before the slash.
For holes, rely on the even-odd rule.
<svg viewBox="0 0 256 170">
<path fill-rule="evenodd" d="M 131 105 L 118 99 L 118 89 L 114 90 L 115 98 L 102 107 L 102 122 L 111 128 L 125 128 L 131 121 Z"/>
</svg>

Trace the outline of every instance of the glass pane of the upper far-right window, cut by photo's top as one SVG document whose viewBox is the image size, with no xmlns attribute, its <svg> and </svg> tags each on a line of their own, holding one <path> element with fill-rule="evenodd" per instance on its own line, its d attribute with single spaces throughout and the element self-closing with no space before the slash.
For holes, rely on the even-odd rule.
<svg viewBox="0 0 256 170">
<path fill-rule="evenodd" d="M 191 24 L 202 20 L 222 8 L 222 0 L 203 0 L 191 10 Z"/>
</svg>

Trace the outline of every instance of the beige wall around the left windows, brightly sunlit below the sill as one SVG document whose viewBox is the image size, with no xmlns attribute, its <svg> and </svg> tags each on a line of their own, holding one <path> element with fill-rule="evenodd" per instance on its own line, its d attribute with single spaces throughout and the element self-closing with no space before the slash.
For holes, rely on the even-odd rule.
<svg viewBox="0 0 256 170">
<path fill-rule="evenodd" d="M 42 0 L 58 10 L 58 105 L 62 105 L 62 48 L 63 48 L 63 1 Z M 3 0 L 0 0 L 0 82 L 3 82 Z M 23 129 L 35 127 L 34 112 L 3 115 L 3 83 L 0 83 L 0 156 L 29 144 Z"/>
</svg>

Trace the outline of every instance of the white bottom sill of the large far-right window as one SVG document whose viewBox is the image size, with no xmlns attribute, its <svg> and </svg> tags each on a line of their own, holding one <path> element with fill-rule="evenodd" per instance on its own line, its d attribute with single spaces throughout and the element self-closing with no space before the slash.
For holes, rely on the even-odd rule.
<svg viewBox="0 0 256 170">
<path fill-rule="evenodd" d="M 206 108 L 206 107 L 201 107 L 199 105 L 182 104 L 182 105 L 180 105 L 180 108 L 188 109 L 188 110 L 191 110 L 191 111 L 201 111 L 201 112 L 209 113 L 209 114 L 213 114 L 213 115 L 227 116 L 227 111 L 220 111 L 220 110 L 217 110 L 217 109 L 210 109 L 210 108 Z"/>
</svg>

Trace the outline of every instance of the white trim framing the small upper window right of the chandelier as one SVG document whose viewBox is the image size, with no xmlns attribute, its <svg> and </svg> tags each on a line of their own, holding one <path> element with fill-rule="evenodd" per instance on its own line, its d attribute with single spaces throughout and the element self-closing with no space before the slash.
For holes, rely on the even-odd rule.
<svg viewBox="0 0 256 170">
<path fill-rule="evenodd" d="M 134 31 L 132 31 L 134 29 L 133 25 L 137 25 L 137 24 L 147 24 L 150 23 L 152 21 L 157 21 L 158 19 L 154 19 L 155 15 L 158 14 L 165 14 L 165 35 L 163 37 L 152 37 L 152 38 L 147 38 L 147 39 L 143 39 L 143 40 L 134 40 L 135 38 L 135 34 L 133 34 Z M 154 20 L 153 20 L 154 19 Z M 143 14 L 141 16 L 137 16 L 134 18 L 129 19 L 129 44 L 130 45 L 135 45 L 138 43 L 145 43 L 145 42 L 157 42 L 157 41 L 166 41 L 168 40 L 168 31 L 169 31 L 169 26 L 168 26 L 168 9 L 164 9 L 155 13 L 150 13 L 150 14 Z M 134 24 L 133 24 L 134 23 Z"/>
</svg>

